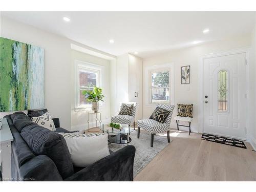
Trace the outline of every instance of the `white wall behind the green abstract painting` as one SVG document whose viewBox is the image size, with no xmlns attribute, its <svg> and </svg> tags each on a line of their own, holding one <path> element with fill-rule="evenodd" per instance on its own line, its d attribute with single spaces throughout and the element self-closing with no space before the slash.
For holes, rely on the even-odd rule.
<svg viewBox="0 0 256 192">
<path fill-rule="evenodd" d="M 3 16 L 0 35 L 45 49 L 45 107 L 52 117 L 60 118 L 62 127 L 70 129 L 71 41 Z"/>
</svg>

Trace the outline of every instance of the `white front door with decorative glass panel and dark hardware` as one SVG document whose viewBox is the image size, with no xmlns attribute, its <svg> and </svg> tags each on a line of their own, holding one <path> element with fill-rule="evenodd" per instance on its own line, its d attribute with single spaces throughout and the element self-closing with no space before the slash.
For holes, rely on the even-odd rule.
<svg viewBox="0 0 256 192">
<path fill-rule="evenodd" d="M 203 132 L 246 140 L 246 53 L 203 61 Z"/>
</svg>

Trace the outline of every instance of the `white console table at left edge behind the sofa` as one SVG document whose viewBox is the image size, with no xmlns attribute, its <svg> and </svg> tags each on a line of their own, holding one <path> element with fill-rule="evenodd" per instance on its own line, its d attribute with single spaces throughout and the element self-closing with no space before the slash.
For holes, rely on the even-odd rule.
<svg viewBox="0 0 256 192">
<path fill-rule="evenodd" d="M 2 119 L 2 129 L 0 130 L 0 164 L 2 167 L 3 181 L 11 181 L 11 142 L 12 133 L 7 119 Z"/>
</svg>

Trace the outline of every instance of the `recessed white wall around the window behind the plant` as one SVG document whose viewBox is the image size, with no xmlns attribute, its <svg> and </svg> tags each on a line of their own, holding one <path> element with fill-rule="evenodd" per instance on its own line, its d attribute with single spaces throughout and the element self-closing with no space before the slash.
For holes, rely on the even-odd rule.
<svg viewBox="0 0 256 192">
<path fill-rule="evenodd" d="M 96 56 L 92 56 L 86 53 L 78 52 L 78 51 L 71 51 L 71 58 L 72 58 L 72 67 L 71 67 L 71 127 L 72 130 L 80 130 L 80 129 L 87 129 L 87 111 L 91 111 L 88 109 L 87 111 L 75 111 L 74 108 L 74 95 L 75 95 L 75 84 L 74 84 L 74 60 L 80 60 L 84 62 L 93 63 L 98 66 L 104 67 L 104 79 L 102 79 L 102 94 L 104 97 L 103 105 L 100 106 L 100 111 L 102 111 L 102 120 L 108 120 L 110 118 L 110 61 L 106 59 L 102 59 Z M 90 116 L 90 122 L 95 121 L 95 115 Z M 98 117 L 99 119 L 99 117 Z M 91 126 L 93 124 L 90 124 Z M 95 125 L 94 125 L 95 126 Z"/>
</svg>

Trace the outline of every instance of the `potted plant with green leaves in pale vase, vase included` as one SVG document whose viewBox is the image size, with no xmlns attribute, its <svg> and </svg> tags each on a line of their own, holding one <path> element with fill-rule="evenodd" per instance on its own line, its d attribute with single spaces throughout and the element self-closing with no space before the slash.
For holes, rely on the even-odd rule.
<svg viewBox="0 0 256 192">
<path fill-rule="evenodd" d="M 86 97 L 86 100 L 92 102 L 92 111 L 99 111 L 99 101 L 103 101 L 104 95 L 102 95 L 102 89 L 94 86 L 93 90 L 83 90 L 82 94 Z"/>
</svg>

